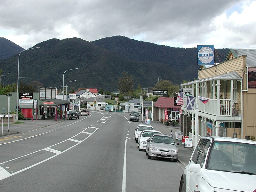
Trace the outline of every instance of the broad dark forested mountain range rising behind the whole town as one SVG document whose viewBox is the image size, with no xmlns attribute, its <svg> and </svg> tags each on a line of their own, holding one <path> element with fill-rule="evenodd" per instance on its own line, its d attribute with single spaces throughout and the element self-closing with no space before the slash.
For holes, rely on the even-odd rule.
<svg viewBox="0 0 256 192">
<path fill-rule="evenodd" d="M 88 42 L 79 38 L 49 39 L 20 54 L 23 83 L 39 81 L 48 87 L 64 86 L 116 90 L 117 80 L 127 71 L 135 77 L 134 88 L 152 87 L 158 77 L 181 84 L 197 78 L 196 48 L 174 48 L 136 41 L 123 36 Z M 227 54 L 228 49 L 221 50 Z M 0 60 L 0 69 L 9 74 L 9 83 L 17 82 L 18 54 Z"/>
</svg>

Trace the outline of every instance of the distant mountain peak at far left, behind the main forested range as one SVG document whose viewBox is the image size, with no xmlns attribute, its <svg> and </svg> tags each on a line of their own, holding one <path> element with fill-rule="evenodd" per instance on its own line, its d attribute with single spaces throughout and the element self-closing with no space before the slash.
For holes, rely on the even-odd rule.
<svg viewBox="0 0 256 192">
<path fill-rule="evenodd" d="M 24 49 L 22 47 L 16 45 L 12 41 L 9 41 L 4 37 L 0 37 L 0 60 L 12 57 L 23 50 Z"/>
</svg>

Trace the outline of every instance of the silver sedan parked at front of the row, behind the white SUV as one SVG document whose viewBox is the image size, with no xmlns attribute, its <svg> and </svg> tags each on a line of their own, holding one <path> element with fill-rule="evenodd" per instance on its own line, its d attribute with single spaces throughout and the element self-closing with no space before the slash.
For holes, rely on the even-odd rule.
<svg viewBox="0 0 256 192">
<path fill-rule="evenodd" d="M 148 159 L 151 157 L 172 159 L 174 162 L 178 160 L 178 148 L 174 139 L 170 135 L 153 134 L 147 140 L 146 155 Z"/>
</svg>

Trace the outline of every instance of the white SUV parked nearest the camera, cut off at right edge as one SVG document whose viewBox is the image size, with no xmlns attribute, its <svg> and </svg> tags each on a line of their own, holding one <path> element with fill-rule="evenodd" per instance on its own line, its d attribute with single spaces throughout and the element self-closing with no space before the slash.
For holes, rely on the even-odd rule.
<svg viewBox="0 0 256 192">
<path fill-rule="evenodd" d="M 202 136 L 180 179 L 179 192 L 256 189 L 256 141 Z"/>
</svg>

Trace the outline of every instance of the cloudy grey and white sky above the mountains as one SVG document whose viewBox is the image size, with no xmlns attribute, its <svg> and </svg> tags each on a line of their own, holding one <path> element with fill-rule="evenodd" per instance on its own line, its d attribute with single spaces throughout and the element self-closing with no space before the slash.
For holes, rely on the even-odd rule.
<svg viewBox="0 0 256 192">
<path fill-rule="evenodd" d="M 110 36 L 172 47 L 256 48 L 252 0 L 1 0 L 0 37 L 24 49 L 51 38 Z"/>
</svg>

